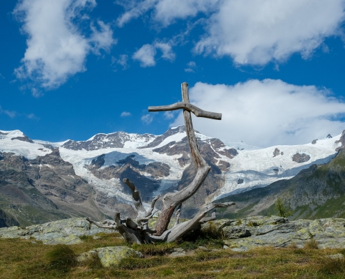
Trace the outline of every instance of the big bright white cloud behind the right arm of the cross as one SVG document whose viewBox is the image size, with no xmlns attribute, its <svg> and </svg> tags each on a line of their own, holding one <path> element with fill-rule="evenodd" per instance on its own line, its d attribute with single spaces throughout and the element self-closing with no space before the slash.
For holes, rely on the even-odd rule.
<svg viewBox="0 0 345 279">
<path fill-rule="evenodd" d="M 338 135 L 345 103 L 327 89 L 296 86 L 281 80 L 249 80 L 233 86 L 198 82 L 190 89 L 191 103 L 222 113 L 222 120 L 193 117 L 194 128 L 223 140 L 243 140 L 255 146 L 305 144 Z M 171 126 L 183 125 L 183 115 Z"/>
</svg>

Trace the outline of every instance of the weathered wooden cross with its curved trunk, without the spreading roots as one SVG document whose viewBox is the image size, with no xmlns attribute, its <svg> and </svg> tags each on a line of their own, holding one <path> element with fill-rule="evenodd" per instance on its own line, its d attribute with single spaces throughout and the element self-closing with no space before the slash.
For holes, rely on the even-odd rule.
<svg viewBox="0 0 345 279">
<path fill-rule="evenodd" d="M 202 158 L 197 146 L 197 138 L 195 137 L 192 124 L 192 116 L 190 112 L 194 113 L 194 115 L 197 117 L 205 117 L 216 120 L 222 119 L 222 114 L 215 112 L 206 112 L 205 110 L 201 110 L 199 109 L 199 107 L 196 107 L 195 105 L 192 105 L 190 103 L 190 98 L 188 95 L 188 84 L 186 82 L 183 82 L 183 84 L 181 84 L 181 91 L 183 100 L 182 102 L 175 103 L 173 105 L 148 107 L 149 112 L 183 110 L 183 116 L 185 119 L 185 131 L 187 133 L 187 139 L 190 144 L 190 152 L 192 153 L 195 166 L 197 167 L 197 174 L 189 186 L 175 193 L 167 193 L 167 195 L 164 196 L 162 211 L 155 228 L 157 230 L 156 234 L 158 235 L 162 234 L 162 232 L 167 229 L 167 225 L 169 224 L 169 220 L 171 218 L 171 215 L 174 213 L 174 209 L 176 208 L 176 206 L 179 206 L 180 204 L 182 204 L 182 202 L 189 199 L 190 197 L 192 197 L 192 195 L 194 195 L 194 193 L 197 192 L 201 184 L 206 179 L 208 172 L 210 171 L 210 167 L 207 165 L 204 158 Z"/>
</svg>

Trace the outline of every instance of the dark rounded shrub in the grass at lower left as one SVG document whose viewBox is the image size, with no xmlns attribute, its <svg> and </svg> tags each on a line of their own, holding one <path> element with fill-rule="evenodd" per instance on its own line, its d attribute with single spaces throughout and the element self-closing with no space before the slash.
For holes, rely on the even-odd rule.
<svg viewBox="0 0 345 279">
<path fill-rule="evenodd" d="M 77 264 L 77 256 L 67 245 L 58 244 L 48 251 L 46 257 L 49 261 L 49 267 L 67 271 Z"/>
</svg>

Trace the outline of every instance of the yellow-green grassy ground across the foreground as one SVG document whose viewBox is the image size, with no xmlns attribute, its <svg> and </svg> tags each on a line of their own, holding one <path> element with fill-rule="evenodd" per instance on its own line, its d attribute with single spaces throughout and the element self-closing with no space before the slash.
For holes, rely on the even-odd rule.
<svg viewBox="0 0 345 279">
<path fill-rule="evenodd" d="M 116 268 L 103 268 L 97 258 L 84 265 L 75 261 L 75 255 L 92 248 L 126 245 L 117 236 L 85 237 L 84 243 L 74 246 L 0 239 L 0 278 L 345 278 L 345 259 L 325 257 L 339 252 L 345 255 L 345 250 L 317 249 L 317 243 L 305 248 L 259 248 L 249 252 L 197 249 L 177 258 L 167 257 L 166 253 L 177 247 L 217 248 L 221 243 L 162 243 L 132 246 L 145 257 L 125 259 Z"/>
</svg>

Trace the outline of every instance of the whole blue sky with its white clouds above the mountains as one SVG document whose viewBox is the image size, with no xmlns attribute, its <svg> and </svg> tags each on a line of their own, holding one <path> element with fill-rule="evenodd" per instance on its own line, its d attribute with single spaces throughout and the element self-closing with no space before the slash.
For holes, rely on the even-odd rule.
<svg viewBox="0 0 345 279">
<path fill-rule="evenodd" d="M 22 0 L 0 3 L 0 130 L 52 142 L 164 133 L 181 83 L 257 146 L 345 129 L 345 0 Z"/>
</svg>

